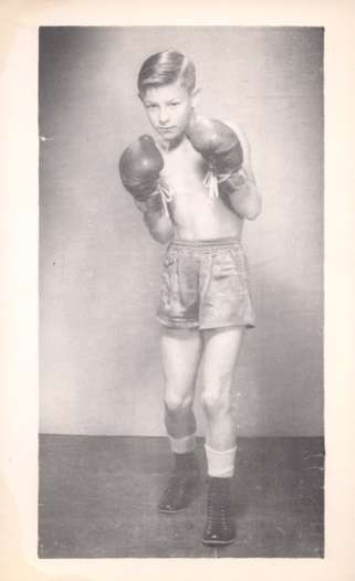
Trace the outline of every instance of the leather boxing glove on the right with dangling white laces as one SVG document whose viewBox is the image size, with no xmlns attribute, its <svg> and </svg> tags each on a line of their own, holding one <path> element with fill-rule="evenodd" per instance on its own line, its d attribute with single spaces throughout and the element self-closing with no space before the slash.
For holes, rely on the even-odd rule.
<svg viewBox="0 0 355 581">
<path fill-rule="evenodd" d="M 211 197 L 232 193 L 244 181 L 238 173 L 243 162 L 243 151 L 237 134 L 218 119 L 192 115 L 186 129 L 192 147 L 201 154 L 210 168 L 206 183 Z"/>
</svg>

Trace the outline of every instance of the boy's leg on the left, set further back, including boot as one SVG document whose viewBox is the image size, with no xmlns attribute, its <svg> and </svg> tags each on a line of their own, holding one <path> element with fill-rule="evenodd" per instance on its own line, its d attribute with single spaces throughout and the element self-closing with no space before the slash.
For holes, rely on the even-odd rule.
<svg viewBox="0 0 355 581">
<path fill-rule="evenodd" d="M 187 506 L 198 482 L 192 404 L 202 338 L 196 330 L 166 328 L 160 347 L 166 385 L 165 425 L 175 457 L 175 471 L 158 508 L 164 513 L 175 513 Z"/>
</svg>

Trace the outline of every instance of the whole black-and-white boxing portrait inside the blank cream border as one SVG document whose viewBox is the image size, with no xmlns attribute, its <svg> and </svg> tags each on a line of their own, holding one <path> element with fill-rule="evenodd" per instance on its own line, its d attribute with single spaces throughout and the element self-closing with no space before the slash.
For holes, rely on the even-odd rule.
<svg viewBox="0 0 355 581">
<path fill-rule="evenodd" d="M 41 559 L 324 557 L 323 36 L 39 29 Z"/>
</svg>

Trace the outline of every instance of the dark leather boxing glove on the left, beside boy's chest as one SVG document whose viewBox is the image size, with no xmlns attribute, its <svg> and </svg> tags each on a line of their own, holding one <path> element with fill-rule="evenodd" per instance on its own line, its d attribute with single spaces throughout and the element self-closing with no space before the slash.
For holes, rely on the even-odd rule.
<svg viewBox="0 0 355 581">
<path fill-rule="evenodd" d="M 129 145 L 119 158 L 118 169 L 122 183 L 139 202 L 159 193 L 163 156 L 149 135 L 143 135 Z"/>
</svg>

